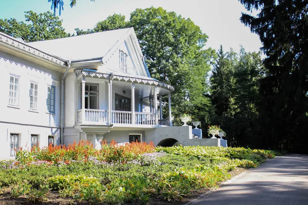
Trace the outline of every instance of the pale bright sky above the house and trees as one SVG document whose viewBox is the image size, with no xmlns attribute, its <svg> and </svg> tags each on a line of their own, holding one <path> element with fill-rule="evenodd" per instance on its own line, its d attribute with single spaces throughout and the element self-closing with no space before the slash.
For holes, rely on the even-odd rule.
<svg viewBox="0 0 308 205">
<path fill-rule="evenodd" d="M 251 33 L 240 22 L 241 12 L 247 13 L 247 10 L 238 0 L 77 0 L 73 8 L 69 6 L 70 0 L 63 1 L 64 11 L 61 16 L 59 12 L 56 14 L 63 19 L 65 31 L 71 34 L 74 28 L 92 29 L 113 13 L 125 15 L 126 20 L 129 20 L 130 13 L 137 8 L 153 6 L 190 18 L 208 35 L 205 48 L 218 50 L 222 45 L 224 51 L 233 48 L 238 52 L 242 45 L 246 51 L 253 52 L 262 47 L 258 35 Z M 48 0 L 0 0 L 0 18 L 16 18 L 25 22 L 25 11 L 53 12 L 50 7 Z"/>
</svg>

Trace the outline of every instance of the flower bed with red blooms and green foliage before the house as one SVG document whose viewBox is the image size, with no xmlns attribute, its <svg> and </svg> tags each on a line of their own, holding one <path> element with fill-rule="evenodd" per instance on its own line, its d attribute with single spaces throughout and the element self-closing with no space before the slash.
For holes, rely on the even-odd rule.
<svg viewBox="0 0 308 205">
<path fill-rule="evenodd" d="M 274 152 L 245 148 L 169 147 L 133 142 L 89 141 L 68 147 L 19 149 L 15 161 L 0 162 L 1 196 L 48 201 L 48 193 L 77 201 L 146 203 L 179 201 L 192 191 L 216 188 L 235 168 L 253 168 Z"/>
</svg>

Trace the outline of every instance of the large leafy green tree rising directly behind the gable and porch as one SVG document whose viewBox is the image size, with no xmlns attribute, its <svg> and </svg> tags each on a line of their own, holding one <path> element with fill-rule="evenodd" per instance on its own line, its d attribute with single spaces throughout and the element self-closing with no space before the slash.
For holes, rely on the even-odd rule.
<svg viewBox="0 0 308 205">
<path fill-rule="evenodd" d="M 184 112 L 193 118 L 206 109 L 205 82 L 215 56 L 211 48 L 204 50 L 207 35 L 189 18 L 160 8 L 136 9 L 130 14 L 130 25 L 136 31 L 152 77 L 171 84 L 172 112 Z M 175 120 L 177 125 L 177 119 Z"/>
</svg>

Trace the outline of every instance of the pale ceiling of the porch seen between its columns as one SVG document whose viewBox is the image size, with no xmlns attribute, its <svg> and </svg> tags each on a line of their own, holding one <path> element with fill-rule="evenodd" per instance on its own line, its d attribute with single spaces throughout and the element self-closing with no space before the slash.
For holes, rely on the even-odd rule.
<svg viewBox="0 0 308 205">
<path fill-rule="evenodd" d="M 139 83 L 139 84 L 135 83 L 134 85 L 135 85 L 135 95 L 140 96 L 140 98 L 145 98 L 145 97 L 154 95 L 155 86 L 147 85 L 143 83 Z M 130 90 L 131 82 L 112 80 L 112 86 L 117 86 L 123 90 Z M 166 95 L 168 93 L 170 93 L 168 89 L 157 86 L 157 95 Z"/>
</svg>

